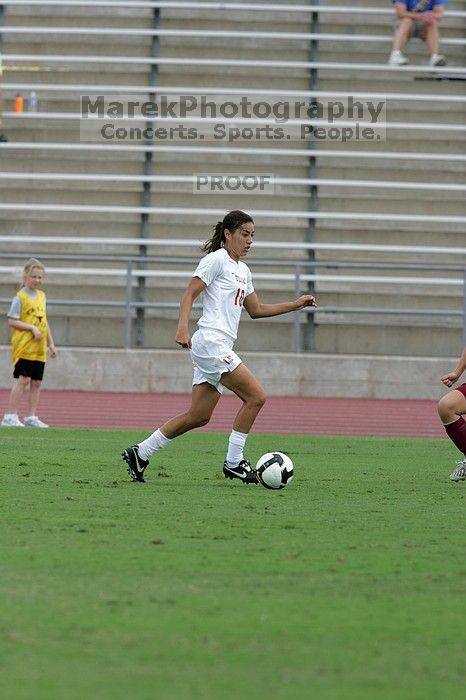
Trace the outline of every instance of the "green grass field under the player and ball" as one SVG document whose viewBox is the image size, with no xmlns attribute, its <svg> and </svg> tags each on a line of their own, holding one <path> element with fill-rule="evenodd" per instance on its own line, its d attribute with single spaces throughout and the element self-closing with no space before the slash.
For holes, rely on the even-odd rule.
<svg viewBox="0 0 466 700">
<path fill-rule="evenodd" d="M 448 440 L 191 433 L 146 484 L 128 431 L 3 429 L 3 700 L 456 700 L 466 484 Z"/>
</svg>

